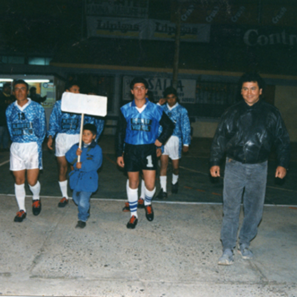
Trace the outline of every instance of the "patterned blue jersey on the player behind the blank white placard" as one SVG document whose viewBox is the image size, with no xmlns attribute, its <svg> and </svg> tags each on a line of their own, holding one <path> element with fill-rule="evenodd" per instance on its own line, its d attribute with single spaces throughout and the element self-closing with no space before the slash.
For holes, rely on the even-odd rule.
<svg viewBox="0 0 297 297">
<path fill-rule="evenodd" d="M 61 110 L 61 100 L 55 102 L 49 117 L 49 135 L 54 137 L 57 133 L 79 134 L 81 125 L 81 114 L 68 113 Z M 104 126 L 104 120 L 85 115 L 84 124 L 91 123 L 97 128 L 96 140 L 98 140 Z"/>
</svg>

